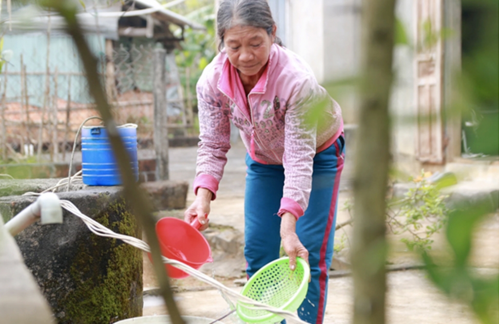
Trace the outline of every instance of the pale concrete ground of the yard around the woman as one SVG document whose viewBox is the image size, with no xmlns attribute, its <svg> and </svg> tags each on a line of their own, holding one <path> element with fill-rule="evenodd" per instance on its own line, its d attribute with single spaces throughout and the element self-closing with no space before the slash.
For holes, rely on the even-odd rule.
<svg viewBox="0 0 499 324">
<path fill-rule="evenodd" d="M 244 232 L 244 187 L 245 149 L 241 144 L 235 145 L 228 154 L 224 179 L 220 184 L 218 198 L 212 203 L 210 222 L 212 227 L 229 226 L 233 233 L 242 235 Z M 195 176 L 196 148 L 170 149 L 170 174 L 173 180 L 188 180 L 192 183 Z M 348 188 L 348 177 L 351 166 L 347 164 L 342 188 Z M 351 197 L 351 192 L 343 190 L 340 193 L 342 206 Z M 194 199 L 192 189 L 188 194 L 188 204 Z M 160 216 L 181 217 L 182 211 L 167 211 Z M 338 222 L 348 219 L 348 213 L 340 211 Z M 225 227 L 224 227 L 225 228 Z M 345 235 L 343 235 L 343 233 Z M 499 268 L 499 215 L 491 215 L 476 232 L 472 263 L 485 274 L 497 274 Z M 336 233 L 336 244 L 348 242 L 351 227 Z M 239 238 L 241 239 L 241 237 Z M 417 264 L 419 260 L 400 242 L 400 237 L 389 235 L 391 250 L 388 262 L 393 266 L 401 264 Z M 232 241 L 238 242 L 238 239 Z M 231 241 L 231 242 L 232 242 Z M 447 249 L 443 238 L 437 237 L 434 245 L 436 253 Z M 217 252 L 217 251 L 214 251 Z M 339 253 L 347 258 L 348 249 Z M 144 285 L 145 290 L 156 286 L 149 261 L 145 259 Z M 241 290 L 238 278 L 244 277 L 244 258 L 241 253 L 215 258 L 213 266 L 202 268 L 205 273 L 215 277 L 226 286 Z M 178 291 L 175 299 L 181 308 L 181 314 L 218 319 L 230 311 L 224 296 L 193 278 L 174 280 L 173 285 Z M 329 279 L 328 300 L 324 323 L 350 323 L 352 317 L 352 278 L 349 276 Z M 467 306 L 450 301 L 442 295 L 427 279 L 422 270 L 394 271 L 388 273 L 387 292 L 387 323 L 390 324 L 472 324 L 478 320 Z M 166 311 L 159 297 L 145 295 L 144 316 L 165 314 Z M 236 315 L 231 315 L 223 321 L 225 324 L 240 323 Z"/>
</svg>

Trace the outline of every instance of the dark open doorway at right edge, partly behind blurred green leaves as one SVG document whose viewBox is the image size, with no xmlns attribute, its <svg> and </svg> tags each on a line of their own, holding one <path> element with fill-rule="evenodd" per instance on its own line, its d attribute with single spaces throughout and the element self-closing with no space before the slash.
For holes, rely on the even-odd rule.
<svg viewBox="0 0 499 324">
<path fill-rule="evenodd" d="M 467 158 L 499 155 L 498 4 L 462 1 L 461 50 L 466 95 L 461 153 Z"/>
</svg>

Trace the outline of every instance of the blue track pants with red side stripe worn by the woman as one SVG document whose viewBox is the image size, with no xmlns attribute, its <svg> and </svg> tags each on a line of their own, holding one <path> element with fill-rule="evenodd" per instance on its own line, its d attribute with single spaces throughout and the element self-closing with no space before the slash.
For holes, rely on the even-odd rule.
<svg viewBox="0 0 499 324">
<path fill-rule="evenodd" d="M 305 214 L 296 223 L 296 234 L 309 252 L 311 282 L 298 316 L 307 323 L 323 323 L 327 299 L 328 269 L 333 258 L 336 205 L 344 138 L 315 155 L 312 191 Z M 266 165 L 246 156 L 245 257 L 251 277 L 265 264 L 279 258 L 280 217 L 284 168 Z"/>
</svg>

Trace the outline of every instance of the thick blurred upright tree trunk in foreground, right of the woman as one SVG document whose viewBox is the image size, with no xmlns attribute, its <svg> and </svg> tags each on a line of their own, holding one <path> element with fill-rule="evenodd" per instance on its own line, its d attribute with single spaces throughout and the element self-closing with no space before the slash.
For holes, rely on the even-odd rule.
<svg viewBox="0 0 499 324">
<path fill-rule="evenodd" d="M 354 180 L 354 324 L 385 323 L 386 199 L 395 0 L 362 6 L 361 105 Z"/>
</svg>

